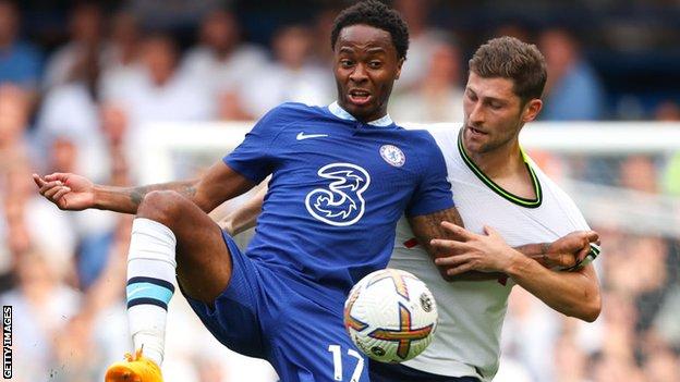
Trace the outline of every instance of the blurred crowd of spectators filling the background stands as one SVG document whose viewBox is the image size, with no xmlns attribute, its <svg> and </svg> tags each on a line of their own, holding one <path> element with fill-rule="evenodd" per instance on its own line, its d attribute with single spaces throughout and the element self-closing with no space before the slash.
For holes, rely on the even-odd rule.
<svg viewBox="0 0 680 382">
<path fill-rule="evenodd" d="M 24 38 L 15 2 L 0 0 L 0 300 L 14 307 L 19 382 L 99 380 L 105 367 L 130 349 L 123 291 L 132 217 L 59 211 L 37 194 L 32 172 L 76 172 L 99 183 L 133 185 L 138 136 L 151 122 L 252 121 L 283 101 L 335 99 L 329 35 L 337 8 L 279 26 L 263 46 L 244 38 L 242 21 L 228 8 L 206 8 L 186 44 L 171 29 L 146 25 L 154 2 L 143 3 L 147 7 L 113 11 L 76 3 L 68 41 L 45 49 Z M 212 3 L 219 2 L 206 1 Z M 394 5 L 410 25 L 411 48 L 390 101 L 391 116 L 462 121 L 466 50 L 460 38 L 432 26 L 432 10 L 422 2 L 397 0 Z M 545 54 L 544 120 L 632 115 L 612 110 L 607 89 L 569 30 L 529 32 L 509 24 L 489 33 L 495 35 L 533 41 Z M 680 121 L 680 107 L 665 100 L 642 116 Z M 548 170 L 555 163 L 538 157 Z M 595 165 L 600 171 L 588 171 L 592 165 L 579 160 L 571 164 L 578 171 L 569 175 L 584 181 L 602 181 L 604 172 L 610 185 L 680 195 L 680 155 L 616 158 Z M 498 380 L 680 379 L 678 237 L 594 229 L 604 243 L 597 259 L 603 315 L 583 324 L 515 288 Z M 221 349 L 181 297 L 174 300 L 169 382 L 276 380 L 271 369 Z"/>
</svg>

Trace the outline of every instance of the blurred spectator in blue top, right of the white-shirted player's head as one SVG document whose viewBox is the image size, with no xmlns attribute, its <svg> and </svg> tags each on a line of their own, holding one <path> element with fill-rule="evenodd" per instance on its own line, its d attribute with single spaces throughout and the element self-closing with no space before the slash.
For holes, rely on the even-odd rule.
<svg viewBox="0 0 680 382">
<path fill-rule="evenodd" d="M 604 88 L 578 41 L 564 29 L 547 29 L 539 36 L 539 46 L 548 69 L 543 119 L 603 119 Z"/>
</svg>

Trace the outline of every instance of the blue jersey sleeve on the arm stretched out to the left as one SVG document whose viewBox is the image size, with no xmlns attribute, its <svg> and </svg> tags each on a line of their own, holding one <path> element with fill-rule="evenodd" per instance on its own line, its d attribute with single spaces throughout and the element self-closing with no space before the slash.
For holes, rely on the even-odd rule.
<svg viewBox="0 0 680 382">
<path fill-rule="evenodd" d="M 276 137 L 287 124 L 281 107 L 271 109 L 245 135 L 245 139 L 222 161 L 241 175 L 259 183 L 274 172 Z"/>
</svg>

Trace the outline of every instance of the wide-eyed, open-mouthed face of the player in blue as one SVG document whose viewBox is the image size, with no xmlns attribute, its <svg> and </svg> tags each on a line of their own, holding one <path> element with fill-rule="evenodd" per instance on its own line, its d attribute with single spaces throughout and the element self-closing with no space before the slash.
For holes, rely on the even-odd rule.
<svg viewBox="0 0 680 382">
<path fill-rule="evenodd" d="M 344 27 L 336 41 L 333 59 L 338 103 L 363 122 L 385 116 L 403 63 L 390 34 L 363 24 Z"/>
</svg>

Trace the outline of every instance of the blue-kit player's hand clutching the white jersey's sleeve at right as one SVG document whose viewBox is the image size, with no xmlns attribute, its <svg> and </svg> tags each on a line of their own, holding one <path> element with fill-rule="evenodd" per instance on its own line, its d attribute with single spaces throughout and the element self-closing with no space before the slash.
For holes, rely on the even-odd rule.
<svg viewBox="0 0 680 382">
<path fill-rule="evenodd" d="M 548 268 L 578 264 L 591 251 L 591 243 L 599 244 L 599 234 L 595 231 L 574 231 L 558 238 L 547 247 L 545 259 Z"/>
</svg>

